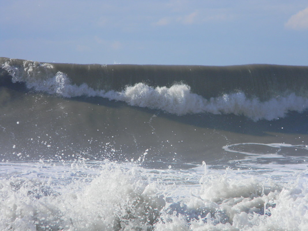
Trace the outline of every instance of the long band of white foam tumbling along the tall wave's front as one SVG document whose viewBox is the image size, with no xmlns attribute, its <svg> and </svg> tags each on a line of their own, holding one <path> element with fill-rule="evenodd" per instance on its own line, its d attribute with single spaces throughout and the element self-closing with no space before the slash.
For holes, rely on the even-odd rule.
<svg viewBox="0 0 308 231">
<path fill-rule="evenodd" d="M 25 61 L 23 67 L 14 67 L 10 62 L 2 68 L 12 75 L 13 82 L 24 82 L 28 88 L 64 97 L 100 96 L 110 100 L 124 101 L 132 106 L 160 109 L 175 115 L 194 113 L 244 115 L 257 120 L 282 118 L 289 111 L 302 112 L 308 108 L 308 99 L 290 93 L 261 102 L 249 99 L 243 92 L 225 94 L 205 99 L 190 91 L 185 84 L 171 87 L 150 87 L 144 83 L 128 86 L 123 91 L 94 90 L 86 83 L 77 86 L 63 72 L 55 72 L 51 64 Z"/>
</svg>

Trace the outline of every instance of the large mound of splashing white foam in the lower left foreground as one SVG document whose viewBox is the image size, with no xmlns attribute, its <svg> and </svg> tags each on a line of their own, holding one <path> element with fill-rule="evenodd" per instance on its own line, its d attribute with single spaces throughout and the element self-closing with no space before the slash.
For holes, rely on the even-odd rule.
<svg viewBox="0 0 308 231">
<path fill-rule="evenodd" d="M 105 167 L 91 183 L 76 180 L 61 194 L 51 178 L 0 179 L 0 229 L 146 230 L 165 205 L 159 187 L 119 165 Z"/>
</svg>

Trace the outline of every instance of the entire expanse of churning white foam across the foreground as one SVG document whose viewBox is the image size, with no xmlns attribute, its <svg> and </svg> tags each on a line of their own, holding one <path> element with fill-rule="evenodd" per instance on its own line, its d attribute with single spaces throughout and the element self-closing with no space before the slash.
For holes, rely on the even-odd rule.
<svg viewBox="0 0 308 231">
<path fill-rule="evenodd" d="M 179 196 L 189 185 L 170 185 L 168 179 L 181 177 L 172 169 L 154 176 L 131 163 L 79 163 L 3 163 L 0 229 L 306 230 L 305 178 L 285 184 L 208 169 L 193 193 Z"/>
</svg>

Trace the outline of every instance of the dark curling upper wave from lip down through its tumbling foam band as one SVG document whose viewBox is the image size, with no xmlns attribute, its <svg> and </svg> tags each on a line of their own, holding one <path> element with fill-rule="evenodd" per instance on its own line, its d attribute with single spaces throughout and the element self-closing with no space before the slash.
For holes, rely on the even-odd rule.
<svg viewBox="0 0 308 231">
<path fill-rule="evenodd" d="M 0 59 L 2 77 L 63 97 L 99 96 L 175 115 L 282 118 L 308 107 L 308 67 L 81 65 Z"/>
</svg>

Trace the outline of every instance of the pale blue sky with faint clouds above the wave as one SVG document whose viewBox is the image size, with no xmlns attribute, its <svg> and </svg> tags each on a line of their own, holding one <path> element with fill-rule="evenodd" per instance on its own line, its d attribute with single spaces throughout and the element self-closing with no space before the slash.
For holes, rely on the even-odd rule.
<svg viewBox="0 0 308 231">
<path fill-rule="evenodd" d="M 10 0 L 0 56 L 56 63 L 308 65 L 307 0 Z"/>
</svg>

